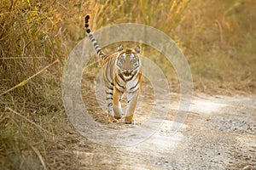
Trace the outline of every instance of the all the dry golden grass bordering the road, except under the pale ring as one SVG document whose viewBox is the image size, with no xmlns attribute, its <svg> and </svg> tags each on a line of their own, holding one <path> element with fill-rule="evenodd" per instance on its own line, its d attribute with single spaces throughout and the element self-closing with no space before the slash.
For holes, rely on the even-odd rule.
<svg viewBox="0 0 256 170">
<path fill-rule="evenodd" d="M 253 3 L 2 0 L 0 168 L 73 169 L 79 166 L 73 150 L 90 151 L 69 124 L 61 102 L 62 67 L 75 43 L 85 36 L 84 14 L 91 15 L 92 30 L 136 22 L 166 32 L 183 49 L 196 92 L 255 94 Z M 178 92 L 172 65 L 165 65 L 166 60 L 153 49 L 144 48 L 144 54 L 160 65 L 172 91 Z M 51 65 L 55 60 L 59 62 Z"/>
</svg>

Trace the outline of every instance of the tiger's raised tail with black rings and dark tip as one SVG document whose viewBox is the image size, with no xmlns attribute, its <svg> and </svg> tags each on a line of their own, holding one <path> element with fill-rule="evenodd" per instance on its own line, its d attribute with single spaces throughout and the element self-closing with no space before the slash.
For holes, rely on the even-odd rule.
<svg viewBox="0 0 256 170">
<path fill-rule="evenodd" d="M 90 38 L 90 42 L 92 42 L 93 47 L 96 49 L 96 52 L 97 52 L 98 56 L 101 59 L 106 59 L 108 56 L 106 54 L 103 54 L 102 49 L 100 48 L 99 44 L 96 42 L 96 39 L 92 36 L 92 33 L 90 32 L 90 28 L 89 28 L 90 16 L 86 15 L 84 19 L 85 19 L 86 32 L 88 34 L 88 37 Z"/>
</svg>

